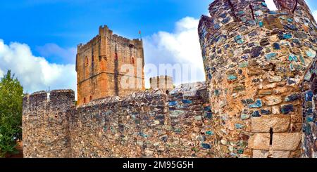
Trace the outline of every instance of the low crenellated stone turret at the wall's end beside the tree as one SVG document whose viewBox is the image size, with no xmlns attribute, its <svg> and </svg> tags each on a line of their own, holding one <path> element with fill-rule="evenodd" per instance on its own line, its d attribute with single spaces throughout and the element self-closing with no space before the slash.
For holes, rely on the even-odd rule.
<svg viewBox="0 0 317 172">
<path fill-rule="evenodd" d="M 23 100 L 23 156 L 70 157 L 70 117 L 74 91 L 40 91 Z"/>
</svg>

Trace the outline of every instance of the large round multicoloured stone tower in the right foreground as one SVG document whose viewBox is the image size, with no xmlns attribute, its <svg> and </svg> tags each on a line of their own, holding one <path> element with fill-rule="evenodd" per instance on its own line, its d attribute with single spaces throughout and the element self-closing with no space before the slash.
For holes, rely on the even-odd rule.
<svg viewBox="0 0 317 172">
<path fill-rule="evenodd" d="M 303 81 L 316 72 L 316 22 L 304 0 L 275 4 L 216 0 L 201 17 L 216 157 L 302 156 L 303 119 L 315 113 Z"/>
</svg>

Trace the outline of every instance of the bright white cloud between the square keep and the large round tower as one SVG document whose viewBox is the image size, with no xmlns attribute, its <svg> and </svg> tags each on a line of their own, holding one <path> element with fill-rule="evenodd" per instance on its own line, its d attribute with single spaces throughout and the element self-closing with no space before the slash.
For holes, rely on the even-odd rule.
<svg viewBox="0 0 317 172">
<path fill-rule="evenodd" d="M 182 18 L 175 23 L 174 32 L 158 32 L 151 37 L 144 39 L 144 53 L 146 64 L 154 64 L 159 67 L 159 64 L 180 64 L 189 65 L 193 70 L 196 70 L 195 78 L 182 79 L 182 83 L 193 81 L 204 81 L 204 65 L 201 57 L 201 48 L 199 45 L 198 36 L 199 20 L 195 18 Z M 160 73 L 162 74 L 162 73 Z M 183 77 L 188 77 L 187 73 L 182 74 Z M 146 83 L 149 85 L 149 74 L 146 74 Z M 173 76 L 175 77 L 175 76 Z M 176 81 L 175 84 L 180 84 Z"/>
</svg>

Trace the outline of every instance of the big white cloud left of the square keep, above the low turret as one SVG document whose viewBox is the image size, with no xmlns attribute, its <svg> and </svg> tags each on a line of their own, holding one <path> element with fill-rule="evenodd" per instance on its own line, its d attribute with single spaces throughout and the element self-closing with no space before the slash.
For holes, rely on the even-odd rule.
<svg viewBox="0 0 317 172">
<path fill-rule="evenodd" d="M 0 74 L 11 70 L 24 91 L 71 88 L 76 91 L 75 65 L 56 65 L 35 57 L 27 44 L 4 44 L 0 39 Z"/>
</svg>

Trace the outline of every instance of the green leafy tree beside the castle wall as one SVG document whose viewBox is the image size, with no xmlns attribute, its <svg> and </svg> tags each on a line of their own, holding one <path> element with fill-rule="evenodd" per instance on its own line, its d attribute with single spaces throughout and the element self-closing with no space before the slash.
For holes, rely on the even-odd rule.
<svg viewBox="0 0 317 172">
<path fill-rule="evenodd" d="M 22 140 L 23 87 L 11 70 L 0 80 L 0 157 L 15 154 Z"/>
</svg>

